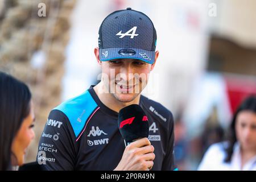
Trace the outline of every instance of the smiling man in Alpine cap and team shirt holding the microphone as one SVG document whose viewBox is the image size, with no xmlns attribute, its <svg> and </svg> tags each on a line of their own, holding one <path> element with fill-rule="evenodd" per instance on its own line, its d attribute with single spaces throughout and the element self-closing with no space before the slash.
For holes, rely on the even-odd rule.
<svg viewBox="0 0 256 182">
<path fill-rule="evenodd" d="M 172 113 L 141 95 L 159 55 L 150 18 L 131 8 L 114 11 L 100 26 L 98 46 L 101 81 L 51 111 L 39 164 L 51 170 L 174 170 Z M 131 104 L 146 113 L 149 136 L 126 146 L 117 119 Z"/>
</svg>

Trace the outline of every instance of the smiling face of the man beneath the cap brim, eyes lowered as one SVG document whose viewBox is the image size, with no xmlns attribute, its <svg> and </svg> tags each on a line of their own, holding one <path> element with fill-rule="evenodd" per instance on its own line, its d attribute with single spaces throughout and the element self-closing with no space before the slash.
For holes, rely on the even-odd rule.
<svg viewBox="0 0 256 182">
<path fill-rule="evenodd" d="M 102 61 L 102 81 L 115 99 L 131 102 L 146 87 L 153 67 L 154 65 L 137 59 Z"/>
</svg>

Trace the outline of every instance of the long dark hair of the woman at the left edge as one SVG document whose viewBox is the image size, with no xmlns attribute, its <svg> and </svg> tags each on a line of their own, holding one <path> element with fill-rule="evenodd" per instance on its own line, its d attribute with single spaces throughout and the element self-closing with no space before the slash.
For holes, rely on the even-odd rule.
<svg viewBox="0 0 256 182">
<path fill-rule="evenodd" d="M 30 101 L 27 85 L 0 72 L 0 171 L 11 167 L 11 144 L 30 113 Z"/>
</svg>

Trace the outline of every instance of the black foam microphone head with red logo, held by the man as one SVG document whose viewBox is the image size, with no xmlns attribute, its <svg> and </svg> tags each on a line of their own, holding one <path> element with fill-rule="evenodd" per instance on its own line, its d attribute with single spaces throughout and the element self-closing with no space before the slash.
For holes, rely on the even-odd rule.
<svg viewBox="0 0 256 182">
<path fill-rule="evenodd" d="M 136 139 L 148 138 L 148 119 L 137 104 L 123 107 L 118 114 L 118 128 L 126 145 Z"/>
</svg>

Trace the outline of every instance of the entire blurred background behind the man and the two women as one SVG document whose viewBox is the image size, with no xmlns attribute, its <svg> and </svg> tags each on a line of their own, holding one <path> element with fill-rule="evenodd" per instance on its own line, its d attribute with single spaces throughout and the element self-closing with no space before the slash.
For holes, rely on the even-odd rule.
<svg viewBox="0 0 256 182">
<path fill-rule="evenodd" d="M 181 170 L 197 168 L 238 104 L 256 93 L 254 0 L 0 0 L 0 70 L 30 85 L 36 107 L 26 162 L 36 159 L 49 111 L 99 81 L 98 28 L 126 7 L 154 22 L 160 55 L 143 94 L 174 114 Z"/>
</svg>

